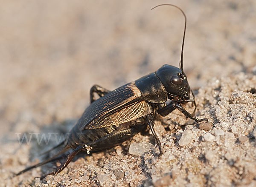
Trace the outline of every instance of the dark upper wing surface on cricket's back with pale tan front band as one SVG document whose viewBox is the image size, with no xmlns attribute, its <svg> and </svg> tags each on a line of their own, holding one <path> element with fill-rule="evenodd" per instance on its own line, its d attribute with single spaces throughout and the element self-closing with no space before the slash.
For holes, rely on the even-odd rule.
<svg viewBox="0 0 256 187">
<path fill-rule="evenodd" d="M 111 115 L 113 111 L 124 108 L 128 106 L 128 104 L 135 103 L 139 101 L 140 98 L 141 92 L 135 86 L 134 82 L 125 84 L 90 104 L 87 109 L 85 109 L 77 125 L 80 130 L 84 130 L 93 120 L 99 119 L 102 116 Z M 92 124 L 90 128 L 93 128 Z"/>
</svg>

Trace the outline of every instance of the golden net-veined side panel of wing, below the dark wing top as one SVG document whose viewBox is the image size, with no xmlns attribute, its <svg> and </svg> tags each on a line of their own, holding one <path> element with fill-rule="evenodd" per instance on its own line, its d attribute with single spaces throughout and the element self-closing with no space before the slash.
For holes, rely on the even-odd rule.
<svg viewBox="0 0 256 187">
<path fill-rule="evenodd" d="M 136 103 L 126 106 L 107 115 L 100 115 L 90 122 L 86 129 L 97 129 L 102 127 L 109 127 L 132 121 L 148 114 L 150 108 L 145 101 L 137 101 Z"/>
</svg>

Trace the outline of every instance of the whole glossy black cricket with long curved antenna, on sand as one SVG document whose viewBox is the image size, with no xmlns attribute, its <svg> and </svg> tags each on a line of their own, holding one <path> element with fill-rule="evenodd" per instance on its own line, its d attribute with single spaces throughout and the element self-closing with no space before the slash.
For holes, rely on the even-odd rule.
<svg viewBox="0 0 256 187">
<path fill-rule="evenodd" d="M 171 4 L 164 5 L 174 6 Z M 177 6 L 175 7 L 180 9 Z M 181 9 L 180 11 L 185 16 Z M 113 91 L 94 85 L 90 89 L 91 104 L 71 129 L 66 141 L 53 148 L 63 147 L 62 150 L 47 161 L 28 167 L 16 175 L 51 162 L 64 152 L 72 150 L 64 163 L 52 173 L 48 173 L 56 174 L 63 170 L 78 152 L 83 150 L 89 154 L 89 152 L 116 146 L 141 132 L 147 125 L 151 129 L 160 153 L 162 153 L 160 140 L 154 131 L 154 115 L 157 113 L 166 116 L 174 109 L 179 109 L 187 118 L 196 122 L 207 121 L 205 118 L 198 119 L 194 117 L 181 106 L 183 103 L 193 102 L 196 108 L 193 92 L 190 90 L 187 77 L 183 72 L 185 33 L 186 16 L 180 68 L 163 65 L 156 72 L 127 83 Z M 98 94 L 100 98 L 96 99 L 94 93 Z M 193 95 L 192 99 L 190 99 L 191 93 Z M 168 99 L 170 102 L 166 105 Z"/>
</svg>

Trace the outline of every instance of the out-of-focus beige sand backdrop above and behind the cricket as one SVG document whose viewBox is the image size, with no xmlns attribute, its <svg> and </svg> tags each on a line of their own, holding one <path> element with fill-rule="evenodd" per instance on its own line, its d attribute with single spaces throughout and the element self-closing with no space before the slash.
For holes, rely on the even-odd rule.
<svg viewBox="0 0 256 187">
<path fill-rule="evenodd" d="M 15 133 L 79 118 L 93 84 L 115 89 L 179 65 L 184 17 L 170 6 L 151 11 L 161 3 L 186 13 L 184 70 L 193 89 L 256 74 L 255 0 L 2 0 L 1 168 L 20 148 Z"/>
</svg>

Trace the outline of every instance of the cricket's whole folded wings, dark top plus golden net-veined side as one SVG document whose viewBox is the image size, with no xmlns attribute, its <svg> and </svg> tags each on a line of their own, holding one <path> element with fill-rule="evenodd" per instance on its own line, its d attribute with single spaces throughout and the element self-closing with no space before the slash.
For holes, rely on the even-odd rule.
<svg viewBox="0 0 256 187">
<path fill-rule="evenodd" d="M 123 118 L 127 121 L 128 116 L 131 118 L 135 114 L 129 114 L 128 110 L 126 111 L 125 108 L 132 107 L 133 110 L 135 108 L 142 109 L 143 103 L 140 103 L 140 101 L 141 92 L 135 83 L 131 82 L 125 84 L 90 104 L 77 122 L 79 130 L 111 126 L 113 123 L 109 118 L 116 121 L 114 124 L 116 124 L 117 121 L 123 121 Z"/>
</svg>

